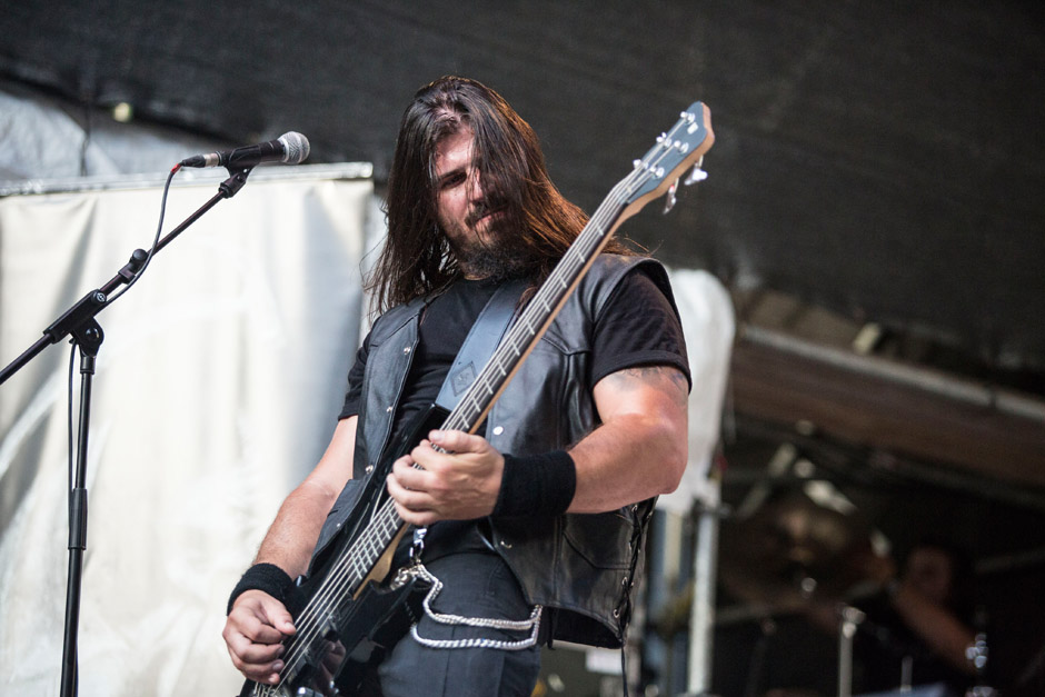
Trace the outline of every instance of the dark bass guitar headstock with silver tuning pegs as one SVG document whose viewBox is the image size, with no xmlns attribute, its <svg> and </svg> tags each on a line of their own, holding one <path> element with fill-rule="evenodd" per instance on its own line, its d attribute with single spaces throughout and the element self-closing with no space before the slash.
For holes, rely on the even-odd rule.
<svg viewBox="0 0 1045 697">
<path fill-rule="evenodd" d="M 691 173 L 683 180 L 690 185 L 707 178 L 700 169 L 704 153 L 715 143 L 711 131 L 711 110 L 695 101 L 679 114 L 670 130 L 660 133 L 657 145 L 640 160 L 635 160 L 635 171 L 626 179 L 625 202 L 630 215 L 637 212 L 650 199 L 668 195 L 665 212 L 675 205 L 675 190 L 683 173 L 690 167 Z M 626 213 L 628 215 L 628 213 Z"/>
</svg>

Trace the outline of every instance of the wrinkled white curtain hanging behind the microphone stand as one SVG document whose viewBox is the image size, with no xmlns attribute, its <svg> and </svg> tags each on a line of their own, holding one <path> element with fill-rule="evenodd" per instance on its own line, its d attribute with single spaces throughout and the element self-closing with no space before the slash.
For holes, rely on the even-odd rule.
<svg viewBox="0 0 1045 697">
<path fill-rule="evenodd" d="M 99 315 L 80 695 L 238 693 L 226 601 L 335 426 L 359 340 L 368 172 L 259 168 Z M 165 231 L 218 181 L 176 187 Z M 147 248 L 159 206 L 157 186 L 0 199 L 0 364 Z M 51 346 L 0 386 L 3 695 L 60 688 L 68 365 L 69 346 Z"/>
</svg>

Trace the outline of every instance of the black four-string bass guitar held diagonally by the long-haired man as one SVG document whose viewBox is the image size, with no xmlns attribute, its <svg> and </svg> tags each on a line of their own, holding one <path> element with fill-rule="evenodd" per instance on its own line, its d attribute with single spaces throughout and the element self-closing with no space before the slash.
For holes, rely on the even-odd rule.
<svg viewBox="0 0 1045 697">
<path fill-rule="evenodd" d="M 350 694 L 359 668 L 382 643 L 381 631 L 398 634 L 386 621 L 416 597 L 416 581 L 388 581 L 392 552 L 409 527 L 384 494 L 391 464 L 408 452 L 428 428 L 474 432 L 504 391 L 563 303 L 624 220 L 647 202 L 667 195 L 665 212 L 675 203 L 679 179 L 703 180 L 704 153 L 714 143 L 710 111 L 694 102 L 678 121 L 656 139 L 646 155 L 609 192 L 584 230 L 526 303 L 505 333 L 486 367 L 449 414 L 421 419 L 410 435 L 388 448 L 370 472 L 349 524 L 339 531 L 321 564 L 314 562 L 307 578 L 299 579 L 306 598 L 295 613 L 298 631 L 286 639 L 285 668 L 277 685 L 248 680 L 240 697 L 303 697 Z M 445 415 L 445 416 L 444 416 Z M 442 419 L 441 422 L 439 419 Z M 317 559 L 316 561 L 319 561 Z"/>
</svg>

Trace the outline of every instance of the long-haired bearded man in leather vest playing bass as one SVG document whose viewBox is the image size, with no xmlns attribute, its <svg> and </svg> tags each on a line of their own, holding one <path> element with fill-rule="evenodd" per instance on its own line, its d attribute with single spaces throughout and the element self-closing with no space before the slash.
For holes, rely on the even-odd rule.
<svg viewBox="0 0 1045 697">
<path fill-rule="evenodd" d="M 512 283 L 525 305 L 587 221 L 548 178 L 529 125 L 454 77 L 421 88 L 404 114 L 387 216 L 367 281 L 380 316 L 334 437 L 230 599 L 232 663 L 261 685 L 278 684 L 280 643 L 298 630 L 290 579 L 436 400 L 490 298 Z M 385 490 L 427 530 L 420 562 L 441 590 L 386 643 L 364 694 L 529 695 L 541 643 L 621 646 L 653 499 L 686 465 L 688 389 L 664 268 L 611 241 L 484 427 L 431 430 L 394 454 Z"/>
</svg>

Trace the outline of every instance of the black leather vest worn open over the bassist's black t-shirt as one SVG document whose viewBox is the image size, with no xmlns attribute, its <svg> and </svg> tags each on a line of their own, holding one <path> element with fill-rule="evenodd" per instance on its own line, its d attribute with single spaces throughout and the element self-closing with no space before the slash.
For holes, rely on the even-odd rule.
<svg viewBox="0 0 1045 697">
<path fill-rule="evenodd" d="M 500 452 L 528 455 L 565 448 L 598 425 L 588 378 L 593 325 L 624 276 L 640 265 L 674 307 L 667 273 L 657 261 L 617 255 L 596 259 L 487 417 L 485 436 Z M 394 308 L 371 329 L 356 438 L 356 480 L 366 477 L 388 444 L 417 348 L 424 306 L 419 299 Z M 342 498 L 352 498 L 348 494 Z M 339 500 L 331 517 L 338 517 L 339 509 L 345 511 L 347 504 Z M 595 515 L 499 517 L 484 527 L 527 599 L 550 610 L 546 619 L 549 638 L 617 647 L 627 628 L 629 591 L 651 509 L 653 500 L 647 500 Z M 338 525 L 328 519 L 327 527 L 321 540 Z"/>
</svg>

